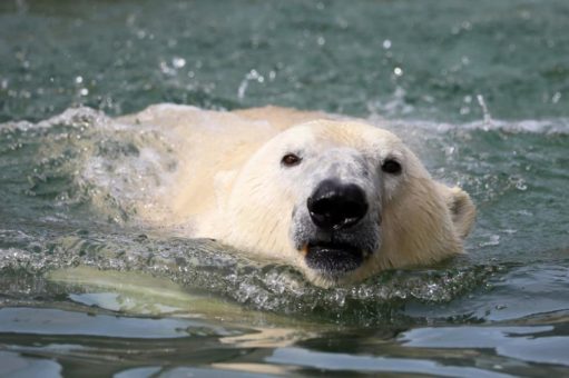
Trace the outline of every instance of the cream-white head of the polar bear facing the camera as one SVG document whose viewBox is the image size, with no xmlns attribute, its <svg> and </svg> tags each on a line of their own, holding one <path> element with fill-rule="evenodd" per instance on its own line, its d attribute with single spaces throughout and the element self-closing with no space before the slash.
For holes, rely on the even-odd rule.
<svg viewBox="0 0 569 378">
<path fill-rule="evenodd" d="M 324 287 L 461 253 L 475 215 L 470 197 L 434 181 L 398 137 L 354 121 L 278 133 L 226 187 L 222 241 L 293 263 Z"/>
</svg>

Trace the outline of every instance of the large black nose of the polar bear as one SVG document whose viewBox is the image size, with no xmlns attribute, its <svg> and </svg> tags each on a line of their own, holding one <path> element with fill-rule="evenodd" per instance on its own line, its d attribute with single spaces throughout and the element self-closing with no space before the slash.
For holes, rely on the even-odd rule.
<svg viewBox="0 0 569 378">
<path fill-rule="evenodd" d="M 326 230 L 353 226 L 367 212 L 362 188 L 335 180 L 322 181 L 306 206 L 314 225 Z"/>
</svg>

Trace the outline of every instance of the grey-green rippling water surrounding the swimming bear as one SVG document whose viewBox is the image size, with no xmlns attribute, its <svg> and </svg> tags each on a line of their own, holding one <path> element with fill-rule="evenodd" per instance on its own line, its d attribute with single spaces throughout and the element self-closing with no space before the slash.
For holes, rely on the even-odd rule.
<svg viewBox="0 0 569 378">
<path fill-rule="evenodd" d="M 0 374 L 551 376 L 569 368 L 566 1 L 3 1 Z M 390 120 L 479 209 L 468 256 L 320 289 L 137 221 L 156 102 Z"/>
</svg>

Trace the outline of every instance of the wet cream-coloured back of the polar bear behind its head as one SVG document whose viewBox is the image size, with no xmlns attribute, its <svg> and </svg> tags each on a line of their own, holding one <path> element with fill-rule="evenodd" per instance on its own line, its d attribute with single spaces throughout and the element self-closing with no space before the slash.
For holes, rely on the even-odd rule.
<svg viewBox="0 0 569 378">
<path fill-rule="evenodd" d="M 209 223 L 224 182 L 267 140 L 306 121 L 331 119 L 316 111 L 279 107 L 235 111 L 204 110 L 192 106 L 154 105 L 119 117 L 119 123 L 156 129 L 173 146 L 177 163 L 168 195 L 156 198 L 151 211 L 141 206 L 138 213 L 165 227 L 190 225 L 199 219 Z M 192 232 L 194 233 L 194 232 Z"/>
</svg>

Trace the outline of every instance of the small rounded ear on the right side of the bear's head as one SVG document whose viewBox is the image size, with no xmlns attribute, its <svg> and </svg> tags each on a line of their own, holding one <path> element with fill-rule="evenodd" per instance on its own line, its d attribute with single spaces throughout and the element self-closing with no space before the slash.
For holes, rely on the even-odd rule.
<svg viewBox="0 0 569 378">
<path fill-rule="evenodd" d="M 439 186 L 442 189 L 447 207 L 451 212 L 454 229 L 458 236 L 464 239 L 474 223 L 477 208 L 470 196 L 459 187 L 449 188 L 442 183 L 439 183 Z"/>
</svg>

